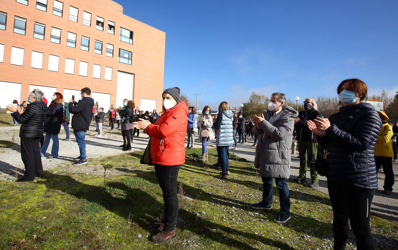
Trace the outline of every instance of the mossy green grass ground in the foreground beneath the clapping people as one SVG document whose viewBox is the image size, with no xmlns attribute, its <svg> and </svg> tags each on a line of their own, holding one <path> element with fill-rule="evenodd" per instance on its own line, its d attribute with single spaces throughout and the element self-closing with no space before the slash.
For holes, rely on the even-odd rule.
<svg viewBox="0 0 398 250">
<path fill-rule="evenodd" d="M 261 199 L 262 189 L 250 162 L 230 160 L 230 178 L 219 180 L 210 166 L 216 150 L 209 150 L 205 163 L 195 159 L 200 150 L 187 150 L 179 172 L 177 240 L 149 242 L 148 236 L 157 233 L 150 225 L 163 216 L 162 193 L 154 167 L 139 164 L 142 152 L 131 152 L 92 160 L 88 167 L 97 168 L 100 177 L 69 175 L 56 168 L 37 182 L 4 183 L 0 249 L 305 250 L 324 249 L 324 242 L 332 240 L 327 195 L 289 181 L 292 219 L 277 225 L 276 188 L 270 211 L 248 207 Z M 193 200 L 181 199 L 183 193 Z M 375 235 L 397 245 L 396 225 L 378 217 L 371 217 L 371 223 Z"/>
</svg>

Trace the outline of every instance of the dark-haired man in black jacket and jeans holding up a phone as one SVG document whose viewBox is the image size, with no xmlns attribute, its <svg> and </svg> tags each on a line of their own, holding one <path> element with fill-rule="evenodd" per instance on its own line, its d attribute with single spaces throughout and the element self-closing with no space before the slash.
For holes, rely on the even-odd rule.
<svg viewBox="0 0 398 250">
<path fill-rule="evenodd" d="M 83 88 L 81 93 L 82 100 L 76 102 L 70 98 L 69 112 L 74 114 L 72 117 L 72 129 L 76 138 L 76 142 L 79 145 L 80 156 L 76 157 L 78 160 L 73 165 L 86 164 L 86 132 L 90 127 L 91 114 L 94 107 L 94 99 L 90 97 L 91 90 L 89 88 Z"/>
</svg>

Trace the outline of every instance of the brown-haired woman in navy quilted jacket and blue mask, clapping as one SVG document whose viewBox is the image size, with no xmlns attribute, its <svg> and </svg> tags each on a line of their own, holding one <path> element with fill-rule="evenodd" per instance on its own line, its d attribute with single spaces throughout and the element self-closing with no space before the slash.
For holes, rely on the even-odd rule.
<svg viewBox="0 0 398 250">
<path fill-rule="evenodd" d="M 328 191 L 333 207 L 334 250 L 345 249 L 348 219 L 358 250 L 374 250 L 369 225 L 370 209 L 377 189 L 375 144 L 381 128 L 380 117 L 367 95 L 365 82 L 342 81 L 338 88 L 341 107 L 330 119 L 307 121 L 317 135 L 327 158 Z"/>
</svg>

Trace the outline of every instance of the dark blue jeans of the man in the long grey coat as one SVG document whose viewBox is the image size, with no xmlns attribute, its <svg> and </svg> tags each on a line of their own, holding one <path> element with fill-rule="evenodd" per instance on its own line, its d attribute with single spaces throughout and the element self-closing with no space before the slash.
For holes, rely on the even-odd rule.
<svg viewBox="0 0 398 250">
<path fill-rule="evenodd" d="M 263 203 L 266 206 L 272 204 L 272 196 L 273 196 L 273 186 L 272 186 L 272 178 L 261 177 L 263 181 Z M 279 205 L 281 207 L 281 211 L 284 213 L 290 214 L 290 196 L 289 196 L 289 187 L 287 186 L 287 182 L 285 178 L 275 178 L 275 183 L 277 188 L 279 189 Z"/>
</svg>

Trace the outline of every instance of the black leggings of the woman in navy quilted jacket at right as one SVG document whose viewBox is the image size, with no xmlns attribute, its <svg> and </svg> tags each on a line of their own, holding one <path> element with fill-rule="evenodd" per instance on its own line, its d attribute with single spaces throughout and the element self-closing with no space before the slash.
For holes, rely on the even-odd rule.
<svg viewBox="0 0 398 250">
<path fill-rule="evenodd" d="M 369 225 L 369 213 L 375 190 L 328 180 L 328 191 L 333 208 L 333 249 L 345 249 L 349 219 L 357 240 L 357 249 L 375 250 L 375 242 Z"/>
</svg>

